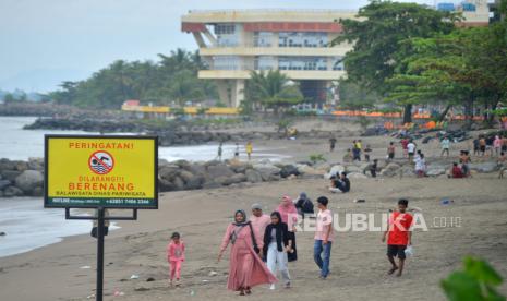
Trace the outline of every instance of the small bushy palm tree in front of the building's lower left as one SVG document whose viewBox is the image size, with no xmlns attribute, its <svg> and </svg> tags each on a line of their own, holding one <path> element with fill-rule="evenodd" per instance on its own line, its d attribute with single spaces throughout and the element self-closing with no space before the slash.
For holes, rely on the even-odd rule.
<svg viewBox="0 0 507 301">
<path fill-rule="evenodd" d="M 264 106 L 273 108 L 276 112 L 303 101 L 299 86 L 280 71 L 251 72 L 245 86 L 245 101 L 254 108 Z M 246 105 L 245 105 L 246 106 Z"/>
</svg>

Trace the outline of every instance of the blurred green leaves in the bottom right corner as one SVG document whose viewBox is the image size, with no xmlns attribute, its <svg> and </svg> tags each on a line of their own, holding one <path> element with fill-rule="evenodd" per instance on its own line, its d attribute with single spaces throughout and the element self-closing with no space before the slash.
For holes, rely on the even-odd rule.
<svg viewBox="0 0 507 301">
<path fill-rule="evenodd" d="M 450 301 L 502 301 L 506 298 L 496 290 L 502 282 L 500 275 L 487 262 L 466 257 L 463 269 L 450 274 L 440 286 Z"/>
</svg>

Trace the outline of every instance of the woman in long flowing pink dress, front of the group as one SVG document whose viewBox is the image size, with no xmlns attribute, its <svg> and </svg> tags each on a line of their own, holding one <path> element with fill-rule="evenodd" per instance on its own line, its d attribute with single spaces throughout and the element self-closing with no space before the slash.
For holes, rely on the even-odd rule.
<svg viewBox="0 0 507 301">
<path fill-rule="evenodd" d="M 261 241 L 259 238 L 255 238 L 243 210 L 236 212 L 234 222 L 227 227 L 217 262 L 220 261 L 229 243 L 232 244 L 227 280 L 229 290 L 239 291 L 240 296 L 244 296 L 252 293 L 251 289 L 254 286 L 278 281 L 257 255 L 258 251 L 254 250 Z"/>
</svg>

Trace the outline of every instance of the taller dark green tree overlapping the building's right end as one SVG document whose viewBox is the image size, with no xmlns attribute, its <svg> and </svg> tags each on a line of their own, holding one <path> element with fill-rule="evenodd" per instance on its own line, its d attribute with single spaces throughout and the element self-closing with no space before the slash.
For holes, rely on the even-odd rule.
<svg viewBox="0 0 507 301">
<path fill-rule="evenodd" d="M 333 44 L 353 43 L 345 56 L 348 77 L 366 91 L 384 95 L 386 83 L 408 53 L 400 43 L 413 37 L 431 37 L 449 33 L 458 20 L 450 12 L 436 11 L 415 3 L 371 1 L 359 10 L 360 20 L 340 20 L 343 34 Z M 361 20 L 363 19 L 363 20 Z M 411 105 L 407 105 L 403 122 L 411 121 Z"/>
</svg>

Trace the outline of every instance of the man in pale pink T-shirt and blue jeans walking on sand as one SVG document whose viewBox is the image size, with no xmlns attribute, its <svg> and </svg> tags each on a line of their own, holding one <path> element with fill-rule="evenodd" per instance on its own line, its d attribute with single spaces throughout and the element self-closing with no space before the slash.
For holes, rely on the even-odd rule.
<svg viewBox="0 0 507 301">
<path fill-rule="evenodd" d="M 329 200 L 326 196 L 317 198 L 317 220 L 314 236 L 313 258 L 321 269 L 319 278 L 325 280 L 329 275 L 331 244 L 334 241 L 333 214 L 327 208 Z"/>
</svg>

